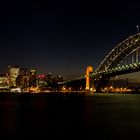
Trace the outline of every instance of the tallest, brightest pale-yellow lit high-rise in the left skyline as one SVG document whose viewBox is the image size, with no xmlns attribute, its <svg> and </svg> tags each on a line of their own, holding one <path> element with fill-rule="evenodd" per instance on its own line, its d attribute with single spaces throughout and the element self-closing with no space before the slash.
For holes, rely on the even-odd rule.
<svg viewBox="0 0 140 140">
<path fill-rule="evenodd" d="M 18 66 L 9 66 L 9 76 L 10 76 L 10 86 L 16 87 L 17 82 L 16 78 L 19 75 L 19 67 Z"/>
</svg>

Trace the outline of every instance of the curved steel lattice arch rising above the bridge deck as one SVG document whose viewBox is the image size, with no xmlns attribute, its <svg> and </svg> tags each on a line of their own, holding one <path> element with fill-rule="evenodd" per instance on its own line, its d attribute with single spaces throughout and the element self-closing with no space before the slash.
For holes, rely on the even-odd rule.
<svg viewBox="0 0 140 140">
<path fill-rule="evenodd" d="M 101 62 L 96 72 L 116 67 L 128 54 L 140 47 L 140 33 L 129 36 L 119 43 Z"/>
</svg>

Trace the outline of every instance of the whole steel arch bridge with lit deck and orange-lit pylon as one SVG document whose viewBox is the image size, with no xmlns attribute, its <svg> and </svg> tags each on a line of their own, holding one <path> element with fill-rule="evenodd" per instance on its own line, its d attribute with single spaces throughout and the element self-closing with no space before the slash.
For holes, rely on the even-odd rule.
<svg viewBox="0 0 140 140">
<path fill-rule="evenodd" d="M 65 81 L 67 86 L 85 85 L 86 90 L 94 87 L 96 91 L 104 88 L 111 77 L 140 71 L 140 33 L 129 36 L 113 48 L 93 71 L 88 66 L 86 74 L 73 80 Z"/>
</svg>

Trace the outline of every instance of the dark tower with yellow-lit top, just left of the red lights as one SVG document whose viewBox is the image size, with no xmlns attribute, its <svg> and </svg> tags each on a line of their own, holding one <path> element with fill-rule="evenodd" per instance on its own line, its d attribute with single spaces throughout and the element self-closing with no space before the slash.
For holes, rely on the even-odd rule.
<svg viewBox="0 0 140 140">
<path fill-rule="evenodd" d="M 37 81 L 36 81 L 36 71 L 30 70 L 29 73 L 29 87 L 36 87 Z"/>
</svg>

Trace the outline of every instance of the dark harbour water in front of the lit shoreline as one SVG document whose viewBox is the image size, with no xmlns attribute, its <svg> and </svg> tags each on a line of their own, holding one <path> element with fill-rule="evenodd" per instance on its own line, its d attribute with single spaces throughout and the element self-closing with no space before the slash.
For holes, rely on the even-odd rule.
<svg viewBox="0 0 140 140">
<path fill-rule="evenodd" d="M 1 93 L 0 136 L 139 139 L 140 95 Z"/>
</svg>

